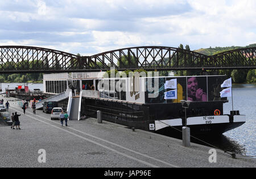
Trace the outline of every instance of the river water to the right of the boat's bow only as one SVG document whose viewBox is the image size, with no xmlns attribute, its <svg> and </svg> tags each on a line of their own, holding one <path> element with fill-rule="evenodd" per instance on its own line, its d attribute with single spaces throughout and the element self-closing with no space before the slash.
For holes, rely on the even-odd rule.
<svg viewBox="0 0 256 179">
<path fill-rule="evenodd" d="M 224 104 L 224 112 L 232 110 L 232 98 Z M 233 144 L 234 149 L 243 149 L 241 153 L 256 156 L 256 85 L 240 85 L 233 87 L 233 107 L 246 115 L 246 123 L 224 133 Z M 232 148 L 230 148 L 232 149 Z M 239 152 L 239 151 L 234 151 Z"/>
</svg>

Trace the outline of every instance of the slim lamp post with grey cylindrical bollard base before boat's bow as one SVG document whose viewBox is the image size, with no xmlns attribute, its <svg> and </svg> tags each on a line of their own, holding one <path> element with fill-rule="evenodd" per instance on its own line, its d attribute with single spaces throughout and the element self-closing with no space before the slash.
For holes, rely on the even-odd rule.
<svg viewBox="0 0 256 179">
<path fill-rule="evenodd" d="M 182 144 L 184 147 L 190 147 L 190 128 L 187 127 L 187 108 L 191 101 L 180 100 L 180 102 L 185 109 L 185 127 L 182 127 Z"/>
</svg>

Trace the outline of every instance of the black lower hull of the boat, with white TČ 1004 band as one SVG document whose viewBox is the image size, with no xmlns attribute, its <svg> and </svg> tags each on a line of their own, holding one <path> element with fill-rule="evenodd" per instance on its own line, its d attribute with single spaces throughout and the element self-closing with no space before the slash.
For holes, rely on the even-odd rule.
<svg viewBox="0 0 256 179">
<path fill-rule="evenodd" d="M 221 135 L 245 123 L 243 120 L 235 122 L 233 115 L 223 115 L 223 103 L 218 101 L 192 104 L 191 109 L 187 111 L 187 119 L 191 119 L 190 123 L 192 123 L 191 125 L 187 123 L 187 126 L 191 128 L 191 135 Z M 221 115 L 214 116 L 216 109 L 221 111 Z M 98 110 L 102 112 L 103 120 L 167 136 L 180 136 L 182 127 L 185 126 L 184 110 L 180 103 L 137 104 L 98 98 L 82 98 L 82 115 L 97 118 Z M 209 120 L 204 121 L 202 118 L 205 117 L 215 119 L 210 122 Z M 225 119 L 223 122 L 221 121 L 222 118 Z M 197 122 L 199 119 L 200 121 Z M 161 126 L 159 121 L 173 123 L 175 120 L 179 120 L 179 122 L 174 126 L 163 124 L 162 127 L 159 127 Z"/>
</svg>

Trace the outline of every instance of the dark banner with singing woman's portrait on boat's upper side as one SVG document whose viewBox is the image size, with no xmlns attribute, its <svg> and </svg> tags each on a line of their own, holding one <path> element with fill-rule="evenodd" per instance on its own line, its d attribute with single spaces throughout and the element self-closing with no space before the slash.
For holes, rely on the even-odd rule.
<svg viewBox="0 0 256 179">
<path fill-rule="evenodd" d="M 148 98 L 146 103 L 179 103 L 180 100 L 193 102 L 220 101 L 221 84 L 225 76 L 190 76 L 190 77 L 159 77 L 159 94 L 156 98 Z M 173 81 L 175 80 L 175 85 Z M 175 97 L 174 94 L 176 87 Z M 167 94 L 168 97 L 167 97 Z"/>
</svg>

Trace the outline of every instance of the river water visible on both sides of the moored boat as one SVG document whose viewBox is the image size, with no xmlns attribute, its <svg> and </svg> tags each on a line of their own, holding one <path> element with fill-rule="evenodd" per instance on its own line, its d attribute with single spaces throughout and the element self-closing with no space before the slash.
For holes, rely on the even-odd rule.
<svg viewBox="0 0 256 179">
<path fill-rule="evenodd" d="M 5 88 L 14 89 L 24 83 L 2 83 L 3 92 Z M 28 84 L 28 88 L 43 90 L 43 84 Z M 230 114 L 232 110 L 232 98 L 224 103 L 224 114 Z M 246 123 L 231 131 L 225 132 L 220 138 L 202 139 L 217 148 L 240 153 L 247 156 L 256 156 L 256 85 L 233 86 L 233 107 L 240 114 L 246 115 Z M 191 140 L 196 143 L 200 141 Z"/>
</svg>

